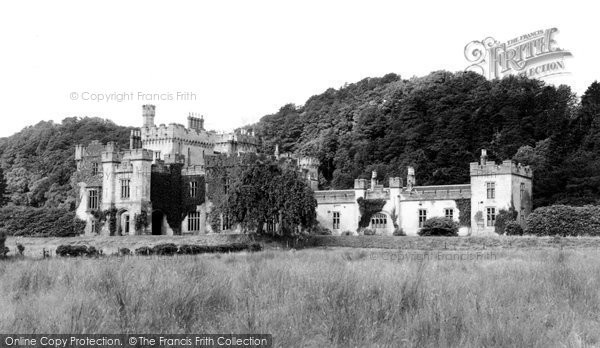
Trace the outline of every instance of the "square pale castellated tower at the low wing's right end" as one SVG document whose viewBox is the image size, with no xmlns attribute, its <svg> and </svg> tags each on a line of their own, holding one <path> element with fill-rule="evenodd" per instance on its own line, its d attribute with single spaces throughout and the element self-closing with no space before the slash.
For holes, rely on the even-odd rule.
<svg viewBox="0 0 600 348">
<path fill-rule="evenodd" d="M 479 163 L 470 164 L 472 233 L 495 232 L 500 210 L 514 209 L 521 224 L 532 210 L 533 172 L 529 166 L 505 160 L 488 162 L 487 151 L 481 150 Z"/>
</svg>

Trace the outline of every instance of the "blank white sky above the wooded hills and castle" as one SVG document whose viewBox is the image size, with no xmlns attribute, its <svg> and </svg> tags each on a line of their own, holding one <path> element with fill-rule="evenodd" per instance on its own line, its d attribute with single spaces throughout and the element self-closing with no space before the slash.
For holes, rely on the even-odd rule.
<svg viewBox="0 0 600 348">
<path fill-rule="evenodd" d="M 227 131 L 366 77 L 461 71 L 465 45 L 556 27 L 546 79 L 600 79 L 593 1 L 3 1 L 0 137 L 71 116 Z M 102 100 L 101 100 L 102 99 Z"/>
</svg>

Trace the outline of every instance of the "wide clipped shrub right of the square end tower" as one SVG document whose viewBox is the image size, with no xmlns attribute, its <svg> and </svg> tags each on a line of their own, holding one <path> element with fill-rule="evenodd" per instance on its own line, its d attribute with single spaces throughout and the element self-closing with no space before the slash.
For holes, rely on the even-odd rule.
<svg viewBox="0 0 600 348">
<path fill-rule="evenodd" d="M 537 208 L 526 220 L 525 234 L 600 236 L 600 206 L 552 205 Z"/>
</svg>

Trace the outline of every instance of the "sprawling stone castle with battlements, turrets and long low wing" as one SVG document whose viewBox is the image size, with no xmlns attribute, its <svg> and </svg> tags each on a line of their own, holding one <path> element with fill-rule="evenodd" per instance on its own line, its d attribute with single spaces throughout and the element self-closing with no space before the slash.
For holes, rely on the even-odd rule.
<svg viewBox="0 0 600 348">
<path fill-rule="evenodd" d="M 75 149 L 79 186 L 77 216 L 86 221 L 89 235 L 204 234 L 236 230 L 221 216 L 209 221 L 211 202 L 206 192 L 218 186 L 227 192 L 224 168 L 252 161 L 258 150 L 253 131 L 216 133 L 204 129 L 204 118 L 190 114 L 188 126 L 155 125 L 155 107 L 143 106 L 143 126 L 132 130 L 129 149 L 115 143 L 92 142 Z M 317 219 L 334 235 L 357 234 L 361 221 L 358 200 L 377 200 L 381 210 L 368 226 L 376 234 L 391 235 L 401 229 L 416 235 L 425 220 L 441 216 L 461 226 L 460 234 L 489 234 L 502 209 L 514 209 L 524 221 L 532 209 L 532 171 L 510 160 L 487 161 L 482 150 L 479 163 L 470 164 L 468 184 L 417 186 L 409 167 L 406 183 L 389 178 L 388 187 L 373 173 L 370 182 L 356 179 L 350 190 L 319 191 L 319 162 L 314 158 L 280 154 L 275 159 L 291 163 L 315 192 Z M 108 223 L 103 214 L 109 212 Z M 267 230 L 276 230 L 277 223 Z"/>
</svg>

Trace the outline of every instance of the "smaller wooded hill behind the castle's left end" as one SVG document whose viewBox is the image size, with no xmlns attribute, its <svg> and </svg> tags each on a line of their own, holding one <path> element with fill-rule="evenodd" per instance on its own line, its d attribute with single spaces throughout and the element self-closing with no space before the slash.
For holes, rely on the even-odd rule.
<svg viewBox="0 0 600 348">
<path fill-rule="evenodd" d="M 99 140 L 129 146 L 130 129 L 99 118 L 70 117 L 60 124 L 40 122 L 0 139 L 7 200 L 15 205 L 74 209 L 76 191 L 70 179 L 75 172 L 75 145 Z"/>
</svg>

